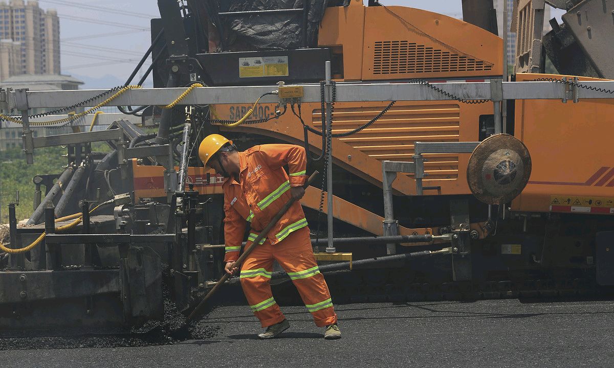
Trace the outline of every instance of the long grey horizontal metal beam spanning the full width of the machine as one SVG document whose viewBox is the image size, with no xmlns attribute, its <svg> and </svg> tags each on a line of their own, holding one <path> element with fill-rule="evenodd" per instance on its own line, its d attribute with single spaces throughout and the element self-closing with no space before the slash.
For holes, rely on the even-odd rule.
<svg viewBox="0 0 614 368">
<path fill-rule="evenodd" d="M 614 98 L 614 81 L 579 82 L 579 98 Z M 430 86 L 462 99 L 492 99 L 491 82 L 430 83 Z M 109 102 L 109 106 L 166 105 L 186 88 L 139 88 L 129 90 Z M 264 93 L 276 91 L 276 86 L 231 86 L 196 88 L 179 105 L 233 104 L 253 102 Z M 104 90 L 27 91 L 29 109 L 65 107 L 103 93 Z M 303 85 L 302 102 L 320 102 L 320 85 Z M 497 91 L 498 94 L 498 91 Z M 554 82 L 502 82 L 501 98 L 505 99 L 564 99 L 565 85 Z M 498 99 L 499 96 L 494 96 Z M 16 107 L 15 92 L 9 92 L 9 105 Z M 336 102 L 359 101 L 449 101 L 452 98 L 418 83 L 337 83 Z M 102 102 L 92 101 L 91 104 Z M 276 96 L 265 96 L 263 103 L 276 103 Z"/>
</svg>

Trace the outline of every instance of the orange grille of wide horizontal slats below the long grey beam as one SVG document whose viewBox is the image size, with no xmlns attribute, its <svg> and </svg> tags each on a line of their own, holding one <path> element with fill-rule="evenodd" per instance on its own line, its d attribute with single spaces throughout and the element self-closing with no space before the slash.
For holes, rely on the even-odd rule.
<svg viewBox="0 0 614 368">
<path fill-rule="evenodd" d="M 377 115 L 386 103 L 362 107 L 335 106 L 333 133 L 351 131 Z M 460 113 L 457 104 L 413 104 L 398 101 L 386 115 L 369 128 L 338 138 L 341 142 L 362 151 L 371 158 L 392 161 L 413 161 L 414 142 L 459 142 Z M 321 111 L 313 110 L 312 126 L 321 129 Z M 424 155 L 428 158 L 424 171 L 427 180 L 458 178 L 459 158 L 454 153 Z M 413 177 L 413 174 L 410 175 Z"/>
</svg>

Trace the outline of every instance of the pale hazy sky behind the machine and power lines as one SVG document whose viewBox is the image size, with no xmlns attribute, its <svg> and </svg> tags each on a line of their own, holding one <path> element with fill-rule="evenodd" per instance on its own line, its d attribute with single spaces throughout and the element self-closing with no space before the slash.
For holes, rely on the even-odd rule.
<svg viewBox="0 0 614 368">
<path fill-rule="evenodd" d="M 462 14 L 461 0 L 382 2 L 457 18 Z M 125 82 L 151 42 L 149 19 L 160 16 L 157 1 L 153 0 L 39 0 L 39 6 L 58 10 L 62 73 L 86 80 L 88 83 L 84 88 L 111 87 Z M 108 22 L 115 25 L 100 24 Z M 113 35 L 93 37 L 99 34 Z M 147 63 L 142 69 L 146 68 Z M 139 75 L 135 77 L 138 79 Z"/>
</svg>

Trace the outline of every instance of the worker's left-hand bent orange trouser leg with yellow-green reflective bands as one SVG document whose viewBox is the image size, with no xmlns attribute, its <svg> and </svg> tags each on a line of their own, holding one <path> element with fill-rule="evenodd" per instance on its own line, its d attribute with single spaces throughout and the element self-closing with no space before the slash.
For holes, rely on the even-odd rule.
<svg viewBox="0 0 614 368">
<path fill-rule="evenodd" d="M 273 270 L 273 255 L 271 242 L 265 242 L 255 247 L 252 253 L 241 265 L 241 287 L 247 299 L 247 304 L 260 320 L 262 327 L 284 320 L 284 315 L 271 293 L 271 270 Z"/>
</svg>

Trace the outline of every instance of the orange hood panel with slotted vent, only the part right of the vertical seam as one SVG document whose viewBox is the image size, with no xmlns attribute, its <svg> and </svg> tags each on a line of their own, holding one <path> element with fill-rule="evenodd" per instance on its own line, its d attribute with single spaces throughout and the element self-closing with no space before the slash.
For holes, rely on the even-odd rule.
<svg viewBox="0 0 614 368">
<path fill-rule="evenodd" d="M 503 40 L 462 20 L 409 7 L 367 7 L 365 27 L 363 80 L 502 74 Z"/>
</svg>

